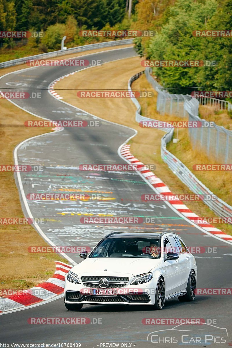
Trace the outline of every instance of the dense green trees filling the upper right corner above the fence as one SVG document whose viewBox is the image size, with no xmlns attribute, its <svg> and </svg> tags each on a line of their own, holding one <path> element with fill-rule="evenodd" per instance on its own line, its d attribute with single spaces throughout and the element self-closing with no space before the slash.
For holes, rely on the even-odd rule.
<svg viewBox="0 0 232 348">
<path fill-rule="evenodd" d="M 230 30 L 232 0 L 177 0 L 167 4 L 165 9 L 161 7 L 163 3 L 141 0 L 136 6 L 135 24 L 139 23 L 142 29 L 156 30 L 153 38 L 136 40 L 137 52 L 140 55 L 143 52 L 151 60 L 217 62 L 216 66 L 153 68 L 161 84 L 171 88 L 170 92 L 191 93 L 192 88 L 189 87 L 195 90 L 226 90 L 223 86 L 232 85 L 231 38 L 195 37 L 193 31 Z"/>
</svg>

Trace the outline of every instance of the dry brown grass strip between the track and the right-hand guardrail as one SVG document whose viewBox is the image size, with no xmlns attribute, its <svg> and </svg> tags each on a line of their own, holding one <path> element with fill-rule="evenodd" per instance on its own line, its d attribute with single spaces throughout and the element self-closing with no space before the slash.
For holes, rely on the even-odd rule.
<svg viewBox="0 0 232 348">
<path fill-rule="evenodd" d="M 93 70 L 94 69 L 94 70 Z M 160 143 L 163 132 L 158 129 L 141 128 L 135 121 L 135 105 L 129 98 L 78 98 L 77 90 L 94 89 L 127 89 L 128 79 L 141 71 L 140 59 L 138 57 L 128 58 L 122 61 L 107 63 L 103 66 L 80 71 L 59 81 L 56 90 L 64 97 L 64 101 L 75 105 L 87 112 L 95 114 L 106 120 L 133 127 L 138 134 L 130 140 L 131 152 L 145 164 L 155 164 L 155 174 L 159 176 L 175 193 L 192 193 L 163 163 L 160 156 Z M 72 88 L 72 90 L 68 90 Z M 133 90 L 151 88 L 142 76 L 133 82 Z M 155 93 L 155 91 L 154 91 Z M 163 119 L 155 112 L 155 96 L 148 98 L 147 115 L 149 117 Z M 153 99 L 153 101 L 152 101 Z M 144 101 L 141 102 L 145 109 Z M 165 116 L 165 120 L 174 120 L 173 116 Z M 177 118 L 175 117 L 175 120 Z M 187 202 L 187 206 L 199 216 L 216 216 L 202 202 Z M 227 224 L 217 225 L 218 228 L 232 234 L 231 226 Z"/>
</svg>

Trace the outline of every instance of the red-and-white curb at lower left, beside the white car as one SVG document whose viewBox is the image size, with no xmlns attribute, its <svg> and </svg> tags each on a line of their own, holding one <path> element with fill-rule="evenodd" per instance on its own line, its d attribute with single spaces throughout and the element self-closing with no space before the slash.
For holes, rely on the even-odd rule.
<svg viewBox="0 0 232 348">
<path fill-rule="evenodd" d="M 64 292 L 64 280 L 67 272 L 73 267 L 61 261 L 55 261 L 56 270 L 46 282 L 35 285 L 16 295 L 0 298 L 0 313 L 30 306 L 31 304 L 49 300 Z"/>
</svg>

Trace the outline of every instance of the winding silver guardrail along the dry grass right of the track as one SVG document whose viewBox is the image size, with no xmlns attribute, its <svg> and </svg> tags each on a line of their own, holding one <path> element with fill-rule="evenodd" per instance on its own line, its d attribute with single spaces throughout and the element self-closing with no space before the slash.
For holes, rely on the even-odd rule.
<svg viewBox="0 0 232 348">
<path fill-rule="evenodd" d="M 131 83 L 141 76 L 143 72 L 132 76 L 128 81 L 128 90 L 131 91 Z M 135 97 L 131 97 L 131 100 L 136 105 L 136 121 L 155 121 L 154 119 L 144 117 L 140 114 L 141 106 Z M 194 99 L 190 102 L 196 103 Z M 198 101 L 197 101 L 198 103 Z M 194 105 L 193 105 L 194 106 Z M 167 150 L 167 144 L 171 141 L 174 133 L 174 128 L 159 128 L 166 132 L 161 139 L 161 157 L 162 160 L 167 163 L 171 171 L 194 193 L 196 194 L 208 194 L 215 198 L 215 200 L 203 200 L 203 203 L 215 212 L 216 215 L 222 217 L 232 217 L 232 206 L 218 198 L 212 191 L 210 191 L 197 177 L 187 168 L 176 156 Z"/>
</svg>

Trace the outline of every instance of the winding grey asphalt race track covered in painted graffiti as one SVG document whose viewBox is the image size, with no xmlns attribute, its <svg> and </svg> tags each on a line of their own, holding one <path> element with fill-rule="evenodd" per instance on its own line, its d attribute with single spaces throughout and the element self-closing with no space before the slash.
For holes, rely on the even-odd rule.
<svg viewBox="0 0 232 348">
<path fill-rule="evenodd" d="M 133 48 L 120 48 L 99 54 L 86 54 L 84 59 L 101 59 L 103 62 L 135 56 Z M 80 68 L 81 69 L 81 68 Z M 94 68 L 93 73 L 94 73 Z M 18 106 L 33 114 L 51 120 L 97 121 L 87 112 L 66 105 L 48 93 L 49 84 L 65 74 L 77 71 L 77 67 L 37 67 L 13 72 L 0 79 L 2 91 L 41 92 L 41 98 L 15 99 Z M 78 78 L 78 74 L 77 74 Z M 20 88 L 20 89 L 17 89 Z M 7 89 L 4 89 L 7 88 Z M 12 88 L 12 89 L 9 89 Z M 81 88 L 81 86 L 80 86 Z M 113 88 L 113 86 L 112 86 Z M 132 102 L 131 102 L 132 105 Z M 16 115 L 17 117 L 17 115 Z M 30 119 L 30 116 L 29 118 Z M 133 129 L 100 120 L 99 127 L 67 127 L 59 132 L 28 140 L 19 146 L 19 164 L 42 165 L 41 172 L 21 173 L 25 195 L 28 193 L 73 193 L 80 190 L 102 193 L 111 200 L 91 201 L 29 201 L 34 217 L 45 217 L 47 223 L 40 225 L 42 232 L 57 246 L 90 246 L 111 231 L 135 229 L 142 231 L 174 231 L 181 235 L 187 246 L 217 247 L 216 253 L 196 254 L 198 288 L 230 288 L 232 246 L 204 234 L 177 215 L 164 202 L 155 204 L 141 201 L 143 193 L 152 189 L 136 172 L 85 172 L 80 164 L 121 164 L 118 148 L 135 134 Z M 116 120 L 115 120 L 116 122 Z M 165 178 L 162 178 L 165 181 Z M 22 199 L 25 216 L 28 210 Z M 115 216 L 155 217 L 155 224 L 100 225 L 83 224 L 85 213 L 111 214 Z M 78 254 L 68 256 L 79 263 Z M 31 317 L 87 317 L 87 325 L 33 325 Z M 97 318 L 98 322 L 94 324 Z M 99 319 L 101 318 L 101 319 Z M 229 295 L 198 295 L 194 302 L 184 303 L 178 299 L 166 301 L 161 311 L 139 306 L 89 306 L 81 312 L 67 311 L 63 298 L 14 313 L 0 315 L 2 343 L 81 343 L 81 347 L 110 347 L 106 343 L 119 343 L 119 347 L 152 347 L 147 335 L 156 330 L 171 329 L 175 325 L 144 325 L 143 318 L 203 318 L 207 323 L 226 328 L 226 343 L 210 344 L 210 347 L 228 347 L 232 342 L 231 298 Z M 212 320 L 214 319 L 214 322 Z M 193 325 L 186 330 L 192 329 Z M 194 327 L 196 330 L 196 325 Z M 222 329 L 198 325 L 197 335 L 211 334 Z M 121 345 L 123 344 L 123 345 Z M 199 347 L 193 343 L 182 347 Z M 111 345 L 112 346 L 112 345 Z M 178 344 L 159 343 L 159 347 L 177 347 Z M 206 345 L 205 345 L 206 346 Z M 62 347 L 62 346 L 60 346 Z M 113 347 L 113 346 L 112 346 Z"/>
</svg>

